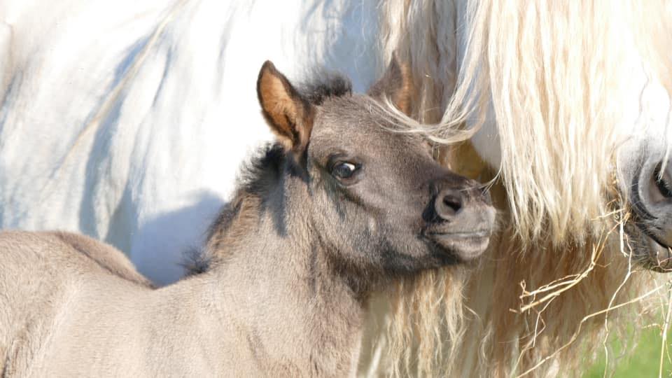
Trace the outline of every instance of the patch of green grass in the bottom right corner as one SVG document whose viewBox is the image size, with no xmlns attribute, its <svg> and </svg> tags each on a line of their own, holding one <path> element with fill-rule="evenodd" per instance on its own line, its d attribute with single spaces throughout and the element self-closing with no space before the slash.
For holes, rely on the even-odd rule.
<svg viewBox="0 0 672 378">
<path fill-rule="evenodd" d="M 672 350 L 672 335 L 668 335 L 668 349 Z M 617 341 L 613 346 L 616 346 Z M 607 377 L 631 378 L 631 377 L 658 377 L 660 364 L 661 335 L 657 328 L 645 330 L 638 345 L 630 356 L 621 358 L 617 361 L 616 369 L 613 375 L 607 374 Z M 672 352 L 671 352 L 672 353 Z M 605 358 L 602 353 L 601 358 L 584 374 L 584 378 L 600 378 L 604 376 Z M 665 356 L 663 363 L 663 377 L 672 376 L 672 363 Z"/>
</svg>

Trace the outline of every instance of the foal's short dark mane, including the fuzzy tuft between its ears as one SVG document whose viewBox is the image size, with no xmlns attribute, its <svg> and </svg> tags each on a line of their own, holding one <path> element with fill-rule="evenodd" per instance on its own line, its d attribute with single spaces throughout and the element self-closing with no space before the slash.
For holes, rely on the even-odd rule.
<svg viewBox="0 0 672 378">
<path fill-rule="evenodd" d="M 315 73 L 313 80 L 299 85 L 297 91 L 309 104 L 321 106 L 326 99 L 351 95 L 352 84 L 339 73 L 322 71 Z M 228 239 L 222 236 L 227 234 L 234 221 L 256 218 L 263 211 L 268 194 L 281 181 L 286 167 L 290 172 L 297 172 L 299 168 L 295 160 L 288 158 L 287 154 L 281 144 L 273 142 L 260 147 L 251 159 L 241 165 L 235 192 L 208 228 L 205 245 L 186 253 L 184 266 L 187 274 L 207 272 L 218 251 L 226 248 Z M 252 211 L 256 214 L 243 214 Z"/>
</svg>

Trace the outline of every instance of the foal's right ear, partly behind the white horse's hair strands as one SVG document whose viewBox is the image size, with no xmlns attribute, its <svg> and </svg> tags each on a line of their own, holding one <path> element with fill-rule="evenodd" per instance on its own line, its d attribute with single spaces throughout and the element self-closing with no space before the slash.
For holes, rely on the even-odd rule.
<svg viewBox="0 0 672 378">
<path fill-rule="evenodd" d="M 393 53 L 383 77 L 369 88 L 367 94 L 379 101 L 384 97 L 390 97 L 397 109 L 408 116 L 411 112 L 412 88 L 409 66 L 401 64 L 397 55 Z"/>
</svg>

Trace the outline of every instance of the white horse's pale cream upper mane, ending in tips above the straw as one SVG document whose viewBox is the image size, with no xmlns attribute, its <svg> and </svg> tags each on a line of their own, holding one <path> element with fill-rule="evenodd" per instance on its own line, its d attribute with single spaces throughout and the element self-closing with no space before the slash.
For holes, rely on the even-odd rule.
<svg viewBox="0 0 672 378">
<path fill-rule="evenodd" d="M 663 63 L 672 62 L 671 25 L 664 17 L 650 22 L 669 8 L 664 1 L 388 1 L 382 29 L 386 55 L 397 51 L 412 66 L 414 118 L 434 124 L 424 131 L 451 143 L 456 127 L 496 120 L 516 229 L 524 240 L 560 243 L 587 237 L 586 222 L 605 212 L 614 164 L 605 157 L 622 143 L 622 104 L 632 89 L 622 78 L 640 64 L 672 89 Z M 456 25 L 460 11 L 465 25 Z"/>
</svg>

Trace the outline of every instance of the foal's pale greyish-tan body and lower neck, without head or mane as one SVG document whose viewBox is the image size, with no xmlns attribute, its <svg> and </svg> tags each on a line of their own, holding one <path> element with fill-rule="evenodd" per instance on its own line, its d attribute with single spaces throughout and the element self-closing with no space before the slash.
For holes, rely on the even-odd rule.
<svg viewBox="0 0 672 378">
<path fill-rule="evenodd" d="M 344 285 L 318 279 L 319 270 L 267 253 L 281 246 L 258 242 L 238 257 L 260 262 L 255 272 L 231 261 L 153 290 L 134 281 L 134 272 L 110 272 L 63 236 L 77 237 L 0 233 L 0 251 L 12 251 L 0 260 L 0 346 L 8 346 L 0 349 L 6 364 L 0 371 L 8 376 L 342 377 L 354 371 L 350 361 L 358 351 L 349 346 L 360 338 L 360 304 Z M 127 262 L 123 253 L 87 240 L 122 262 L 110 266 Z M 25 269 L 8 269 L 17 266 Z M 311 274 L 315 292 L 288 297 L 294 288 L 308 288 L 295 281 L 308 282 Z M 311 321 L 324 311 L 333 315 L 327 322 Z"/>
</svg>

